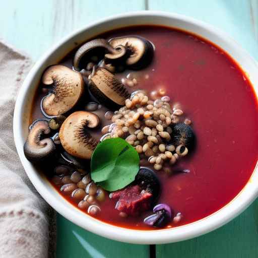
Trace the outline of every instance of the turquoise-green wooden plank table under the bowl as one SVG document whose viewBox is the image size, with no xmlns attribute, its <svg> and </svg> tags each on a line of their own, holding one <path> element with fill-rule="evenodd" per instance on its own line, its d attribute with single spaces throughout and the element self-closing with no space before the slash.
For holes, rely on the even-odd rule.
<svg viewBox="0 0 258 258">
<path fill-rule="evenodd" d="M 2 1 L 0 38 L 37 60 L 73 30 L 130 11 L 176 12 L 213 24 L 258 60 L 258 0 L 45 0 Z M 179 243 L 120 243 L 57 216 L 57 257 L 258 257 L 258 201 L 222 228 Z"/>
</svg>

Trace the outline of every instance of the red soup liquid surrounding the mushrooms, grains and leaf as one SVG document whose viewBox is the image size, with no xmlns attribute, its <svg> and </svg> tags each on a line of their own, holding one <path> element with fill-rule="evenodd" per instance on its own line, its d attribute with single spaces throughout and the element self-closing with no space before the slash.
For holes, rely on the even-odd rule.
<svg viewBox="0 0 258 258">
<path fill-rule="evenodd" d="M 189 151 L 186 148 L 187 155 L 184 156 L 179 153 L 178 157 L 178 155 L 174 155 L 177 153 L 175 149 L 168 151 L 169 146 L 173 145 L 169 139 L 165 149 L 159 149 L 158 153 L 165 155 L 165 152 L 170 152 L 176 159 L 179 159 L 174 162 L 175 164 L 166 162 L 166 160 L 162 161 L 163 166 L 162 162 L 159 164 L 154 162 L 156 165 L 154 167 L 153 164 L 148 162 L 148 160 L 150 161 L 150 155 L 147 155 L 147 157 L 142 154 L 139 155 L 140 166 L 149 168 L 157 176 L 160 182 L 160 191 L 157 199 L 148 206 L 147 210 L 140 209 L 141 212 L 133 214 L 134 216 L 118 211 L 117 199 L 109 198 L 110 192 L 102 188 L 99 188 L 100 202 L 95 199 L 88 199 L 93 206 L 99 204 L 97 208 L 93 207 L 92 213 L 89 213 L 89 205 L 82 202 L 86 196 L 86 186 L 80 187 L 83 177 L 85 178 L 84 181 L 90 181 L 86 177 L 86 173 L 90 171 L 89 159 L 83 161 L 86 168 L 77 169 L 77 173 L 74 173 L 75 169 L 66 171 L 66 173 L 54 170 L 54 167 L 58 165 L 59 157 L 48 163 L 47 166 L 42 164 L 39 166 L 47 174 L 49 181 L 56 190 L 67 201 L 85 213 L 94 216 L 94 218 L 115 226 L 155 230 L 176 227 L 203 219 L 221 209 L 237 196 L 249 180 L 256 165 L 258 117 L 257 100 L 253 88 L 244 72 L 225 51 L 188 32 L 159 26 L 136 26 L 113 30 L 98 35 L 96 38 L 110 40 L 111 38 L 128 35 L 140 36 L 148 40 L 155 49 L 153 58 L 148 60 L 149 63 L 146 67 L 142 69 L 134 68 L 134 70 L 131 70 L 130 66 L 125 66 L 125 69 L 119 68 L 120 63 L 118 61 L 118 64 L 115 63 L 114 65 L 116 70 L 112 73 L 124 85 L 128 93 L 142 89 L 152 102 L 155 99 L 162 100 L 163 97 L 164 100 L 165 97 L 169 97 L 167 101 L 171 105 L 171 114 L 174 114 L 177 110 L 183 111 L 183 114 L 174 117 L 178 117 L 180 123 L 192 128 L 195 134 L 194 146 L 188 148 Z M 64 57 L 60 64 L 72 69 L 73 58 L 77 50 L 78 48 Z M 96 56 L 93 55 L 90 63 L 96 65 L 98 61 Z M 124 60 L 121 63 L 124 64 Z M 86 88 L 89 83 L 88 76 L 94 76 L 92 73 L 93 64 L 85 63 L 84 71 L 81 71 Z M 100 66 L 100 64 L 98 65 Z M 96 69 L 99 68 L 96 67 Z M 103 69 L 110 69 L 110 67 Z M 63 73 L 65 74 L 65 72 Z M 42 98 L 47 95 L 47 91 L 46 85 L 41 84 L 39 86 L 35 95 L 32 121 L 38 118 L 46 119 L 41 112 L 40 103 Z M 87 94 L 87 91 L 83 97 L 83 102 L 83 107 L 81 105 L 80 108 L 75 107 L 72 110 L 73 112 L 85 110 L 84 106 L 86 104 L 88 111 L 92 110 L 93 113 L 97 114 L 101 125 L 98 128 L 89 128 L 89 131 L 98 141 L 104 133 L 108 132 L 105 131 L 108 130 L 108 127 L 106 129 L 103 129 L 103 127 L 112 123 L 110 119 L 105 118 L 105 114 L 110 108 L 107 108 L 105 103 L 97 103 L 92 95 Z M 95 103 L 87 105 L 89 102 Z M 163 101 L 162 103 L 167 102 Z M 152 104 L 150 102 L 150 105 Z M 124 104 L 121 106 L 124 106 Z M 118 108 L 112 111 L 115 110 L 118 110 Z M 68 114 L 73 112 L 68 110 Z M 68 116 L 66 112 L 64 114 L 66 117 Z M 117 112 L 107 114 L 111 114 L 112 117 L 112 115 L 117 115 Z M 175 130 L 174 126 L 177 123 L 170 123 L 171 131 Z M 135 129 L 137 131 L 137 128 Z M 167 129 L 164 131 L 171 136 L 173 135 L 173 132 L 169 132 Z M 58 130 L 53 131 L 52 135 L 55 132 L 58 132 Z M 156 134 L 158 132 L 157 130 Z M 128 135 L 130 134 L 124 132 L 121 138 L 126 139 Z M 58 137 L 57 141 L 59 141 Z M 136 141 L 138 140 L 135 139 L 134 143 Z M 62 147 L 59 144 L 58 148 L 63 151 Z M 136 148 L 136 146 L 134 147 Z M 181 152 L 183 153 L 185 146 L 182 148 Z M 167 153 L 167 155 L 170 154 Z M 158 154 L 151 155 L 151 158 L 152 156 L 157 159 Z M 66 166 L 63 164 L 61 164 L 62 169 Z M 87 172 L 85 173 L 85 171 Z M 71 181 L 72 173 L 74 173 L 72 176 L 75 179 Z M 76 187 L 66 186 L 71 187 L 71 189 L 64 190 L 63 185 L 74 185 L 75 182 Z M 97 188 L 94 187 L 96 187 L 95 184 L 92 186 L 93 191 L 97 191 Z M 80 190 L 78 190 L 79 188 Z M 79 198 L 75 198 L 76 196 L 79 196 Z M 78 207 L 80 202 L 81 205 Z M 149 216 L 158 214 L 157 211 L 156 213 L 152 211 L 156 204 L 165 204 L 171 209 L 170 219 L 166 220 L 166 223 L 162 224 L 161 227 L 155 224 L 157 222 L 156 217 L 151 219 L 153 219 L 154 226 L 157 227 L 153 227 L 153 223 L 146 223 L 145 220 Z M 162 209 L 165 208 L 162 207 Z"/>
</svg>

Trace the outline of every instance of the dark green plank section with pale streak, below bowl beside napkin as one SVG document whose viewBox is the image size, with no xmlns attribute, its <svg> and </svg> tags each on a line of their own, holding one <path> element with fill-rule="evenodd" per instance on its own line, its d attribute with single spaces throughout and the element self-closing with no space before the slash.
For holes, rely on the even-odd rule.
<svg viewBox="0 0 258 258">
<path fill-rule="evenodd" d="M 57 257 L 149 257 L 149 245 L 120 243 L 99 237 L 57 216 Z M 61 247 L 61 248 L 60 248 Z"/>
</svg>

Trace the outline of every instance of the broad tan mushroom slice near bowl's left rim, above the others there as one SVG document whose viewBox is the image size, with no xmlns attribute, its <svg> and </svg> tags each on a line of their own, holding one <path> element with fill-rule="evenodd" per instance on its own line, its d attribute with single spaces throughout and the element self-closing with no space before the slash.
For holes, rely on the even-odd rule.
<svg viewBox="0 0 258 258">
<path fill-rule="evenodd" d="M 84 92 L 84 81 L 80 73 L 65 66 L 49 67 L 42 77 L 44 85 L 53 85 L 49 94 L 41 101 L 41 109 L 47 117 L 61 115 L 73 108 Z"/>
</svg>

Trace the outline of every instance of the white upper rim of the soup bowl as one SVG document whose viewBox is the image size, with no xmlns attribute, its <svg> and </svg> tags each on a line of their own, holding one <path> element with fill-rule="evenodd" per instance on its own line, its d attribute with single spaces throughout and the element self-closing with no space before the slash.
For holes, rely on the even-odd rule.
<svg viewBox="0 0 258 258">
<path fill-rule="evenodd" d="M 40 193 L 40 195 L 45 199 L 45 201 L 51 207 L 53 207 L 58 213 L 60 213 L 63 217 L 67 218 L 68 220 L 81 226 L 84 229 L 87 229 L 93 233 L 96 233 L 98 235 L 101 235 L 103 237 L 107 237 L 113 240 L 128 242 L 128 243 L 138 243 L 138 244 L 160 244 L 160 243 L 182 241 L 182 240 L 186 240 L 192 237 L 196 237 L 196 236 L 208 233 L 226 224 L 227 222 L 235 218 L 238 214 L 240 214 L 258 196 L 258 185 L 255 186 L 255 183 L 253 183 L 258 178 L 257 165 L 249 181 L 243 187 L 243 189 L 238 193 L 238 195 L 230 203 L 226 204 L 220 210 L 209 215 L 208 217 L 205 217 L 193 223 L 189 223 L 189 224 L 171 228 L 171 229 L 161 229 L 161 230 L 155 230 L 155 231 L 127 229 L 127 228 L 122 228 L 122 227 L 114 226 L 114 225 L 99 221 L 88 215 L 85 216 L 85 213 L 78 212 L 80 210 L 71 209 L 69 208 L 68 205 L 65 205 L 63 203 L 58 203 L 58 200 L 51 198 L 51 196 L 49 196 L 49 192 L 44 186 L 44 183 L 40 181 L 36 176 L 36 173 L 37 173 L 36 170 L 33 169 L 32 166 L 29 165 L 29 162 L 26 160 L 23 153 L 23 139 L 21 139 L 22 137 L 20 134 L 17 134 L 17 132 L 21 131 L 21 126 L 22 126 L 21 124 L 23 119 L 22 109 L 24 106 L 24 99 L 28 89 L 30 88 L 33 78 L 36 75 L 37 71 L 42 66 L 42 64 L 46 62 L 47 59 L 58 48 L 66 44 L 71 38 L 79 36 L 80 34 L 84 33 L 90 28 L 94 28 L 98 25 L 101 25 L 102 23 L 115 22 L 119 20 L 125 20 L 128 18 L 136 19 L 143 16 L 176 19 L 180 22 L 186 22 L 189 24 L 200 26 L 205 30 L 209 30 L 218 38 L 221 38 L 224 41 L 227 41 L 228 44 L 232 45 L 235 49 L 238 49 L 241 52 L 241 54 L 245 58 L 248 58 L 250 62 L 253 62 L 254 66 L 256 66 L 256 68 L 258 69 L 258 66 L 255 60 L 245 50 L 243 50 L 238 43 L 236 43 L 231 37 L 229 37 L 226 33 L 221 31 L 220 29 L 217 29 L 214 26 L 204 23 L 202 21 L 199 21 L 184 15 L 167 13 L 167 12 L 159 12 L 159 11 L 138 11 L 138 12 L 130 12 L 125 14 L 115 15 L 112 17 L 101 19 L 94 23 L 90 23 L 86 26 L 83 26 L 79 30 L 76 30 L 75 32 L 64 37 L 53 47 L 51 47 L 48 51 L 46 51 L 43 54 L 43 56 L 34 64 L 33 68 L 31 69 L 25 81 L 23 82 L 23 85 L 17 97 L 15 110 L 14 110 L 13 130 L 14 130 L 15 145 L 16 145 L 20 160 L 23 164 L 23 167 L 28 177 L 30 178 L 31 182 L 33 183 L 37 191 Z M 130 26 L 130 25 L 127 25 L 127 26 Z M 125 27 L 125 25 L 122 27 Z M 208 40 L 211 41 L 210 39 Z M 255 94 L 257 97 L 257 93 Z"/>
</svg>

